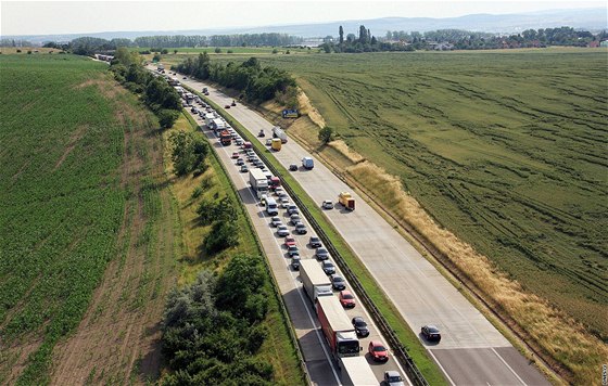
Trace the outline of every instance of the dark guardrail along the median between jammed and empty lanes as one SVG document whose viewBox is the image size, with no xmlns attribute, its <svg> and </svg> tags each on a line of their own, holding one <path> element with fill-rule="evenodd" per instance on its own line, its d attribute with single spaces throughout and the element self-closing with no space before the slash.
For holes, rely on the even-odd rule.
<svg viewBox="0 0 608 386">
<path fill-rule="evenodd" d="M 195 91 L 191 88 L 188 88 L 188 89 L 192 90 L 200 98 L 203 98 L 202 95 L 200 95 L 200 93 L 198 91 Z M 250 134 L 249 133 L 243 133 L 237 127 L 237 125 L 233 125 L 232 120 L 225 116 L 225 114 L 224 114 L 225 112 L 223 112 L 220 108 L 218 108 L 216 103 L 210 101 L 206 98 L 205 98 L 205 100 L 207 100 L 207 102 L 211 102 L 212 104 L 214 104 L 216 106 L 216 112 L 218 114 L 220 114 L 226 119 L 226 121 L 228 124 L 230 124 L 232 126 L 232 128 L 241 134 L 241 137 L 249 139 Z M 255 146 L 253 146 L 253 147 L 254 147 L 254 151 L 256 151 L 256 147 Z M 280 176 L 279 170 L 277 170 L 277 168 L 271 163 L 268 162 L 267 156 L 265 154 L 263 154 L 263 152 L 257 152 L 256 151 L 256 153 L 257 153 L 258 157 L 262 160 L 264 160 L 264 163 L 266 164 L 268 169 L 275 176 Z M 407 377 L 416 386 L 429 386 L 429 383 L 427 382 L 427 379 L 425 378 L 422 373 L 420 373 L 420 370 L 418 370 L 418 366 L 416 365 L 416 363 L 414 362 L 414 360 L 411 359 L 409 353 L 407 353 L 407 349 L 401 344 L 401 342 L 400 342 L 398 337 L 396 336 L 395 332 L 393 331 L 393 329 L 391 329 L 391 326 L 387 322 L 387 319 L 382 316 L 382 313 L 380 312 L 378 307 L 376 307 L 376 305 L 373 304 L 371 298 L 367 295 L 367 292 L 365 291 L 364 286 L 360 284 L 359 280 L 354 274 L 354 272 L 349 268 L 349 266 L 346 265 L 346 261 L 344 260 L 342 255 L 338 252 L 338 249 L 335 249 L 335 247 L 331 243 L 331 240 L 325 233 L 324 229 L 320 227 L 320 224 L 317 222 L 317 220 L 312 216 L 308 208 L 304 205 L 304 203 L 300 200 L 300 197 L 297 197 L 297 195 L 291 189 L 291 186 L 288 183 L 283 183 L 283 188 L 289 193 L 289 195 L 291 196 L 293 202 L 297 205 L 301 213 L 303 213 L 306 216 L 306 219 L 308 220 L 308 222 L 311 223 L 311 226 L 313 227 L 315 232 L 317 232 L 318 236 L 322 240 L 324 245 L 327 247 L 327 249 L 333 256 L 335 262 L 340 267 L 340 270 L 344 273 L 346 279 L 351 283 L 353 290 L 359 296 L 359 299 L 362 300 L 362 303 L 369 310 L 369 313 L 370 313 L 371 318 L 373 319 L 373 322 L 376 323 L 376 325 L 378 325 L 378 329 L 381 331 L 382 335 L 387 338 L 387 343 L 393 349 L 393 355 L 395 356 L 395 358 L 397 358 L 397 360 L 402 364 L 404 371 L 407 373 Z"/>
</svg>

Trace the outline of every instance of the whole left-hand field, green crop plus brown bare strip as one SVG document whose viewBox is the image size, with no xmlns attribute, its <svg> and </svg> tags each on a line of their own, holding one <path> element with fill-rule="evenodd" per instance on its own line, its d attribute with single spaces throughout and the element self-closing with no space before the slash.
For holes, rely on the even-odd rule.
<svg viewBox="0 0 608 386">
<path fill-rule="evenodd" d="M 157 123 L 106 64 L 0 66 L 0 383 L 154 377 L 178 245 Z"/>
</svg>

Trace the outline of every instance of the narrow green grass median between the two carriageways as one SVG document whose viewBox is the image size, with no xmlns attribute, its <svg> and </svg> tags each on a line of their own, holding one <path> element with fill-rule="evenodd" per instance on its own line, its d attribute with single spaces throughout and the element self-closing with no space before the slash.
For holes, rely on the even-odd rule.
<svg viewBox="0 0 608 386">
<path fill-rule="evenodd" d="M 202 97 L 202 95 L 200 95 Z M 204 97 L 202 97 L 204 98 Z M 362 285 L 365 287 L 367 294 L 371 297 L 375 305 L 378 307 L 380 312 L 384 316 L 391 327 L 396 333 L 400 342 L 407 348 L 408 353 L 414 359 L 416 365 L 426 377 L 426 379 L 431 385 L 441 385 L 445 384 L 445 378 L 439 369 L 439 366 L 434 363 L 434 361 L 429 357 L 426 349 L 422 347 L 420 342 L 418 340 L 418 336 L 409 329 L 405 320 L 401 317 L 400 312 L 394 308 L 392 303 L 385 297 L 384 293 L 380 290 L 371 274 L 367 271 L 365 266 L 355 257 L 355 254 L 351 250 L 344 240 L 340 236 L 340 234 L 333 229 L 333 227 L 327 221 L 325 216 L 322 215 L 321 210 L 317 203 L 315 203 L 300 186 L 300 184 L 291 177 L 291 175 L 279 164 L 273 156 L 269 154 L 269 150 L 264 146 L 254 136 L 251 136 L 249 131 L 242 127 L 238 121 L 236 121 L 229 113 L 223 112 L 221 106 L 216 105 L 214 102 L 207 100 L 214 108 L 227 118 L 230 125 L 238 129 L 242 137 L 248 139 L 252 142 L 255 146 L 257 152 L 265 153 L 268 155 L 268 162 L 280 171 L 280 176 L 283 180 L 283 183 L 289 184 L 297 196 L 303 201 L 305 206 L 309 209 L 314 218 L 317 222 L 321 226 L 326 234 L 330 237 L 334 247 L 340 252 L 342 257 L 346 260 L 351 270 L 356 274 L 359 279 Z"/>
</svg>

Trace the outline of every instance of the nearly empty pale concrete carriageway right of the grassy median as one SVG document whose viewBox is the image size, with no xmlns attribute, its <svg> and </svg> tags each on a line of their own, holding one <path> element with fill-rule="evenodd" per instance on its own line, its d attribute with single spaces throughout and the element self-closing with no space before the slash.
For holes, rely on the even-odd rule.
<svg viewBox="0 0 608 386">
<path fill-rule="evenodd" d="M 182 83 L 201 90 L 210 89 L 210 99 L 219 105 L 232 99 L 195 80 Z M 241 104 L 228 113 L 254 136 L 273 125 Z M 289 132 L 288 132 L 289 133 Z M 309 155 L 295 141 L 289 141 L 274 156 L 286 168 L 300 164 Z M 314 170 L 300 168 L 292 173 L 307 194 L 317 203 L 337 201 L 342 191 L 351 191 L 320 162 Z M 351 191 L 352 192 L 352 191 Z M 442 331 L 440 344 L 420 342 L 455 385 L 548 385 L 510 343 L 406 240 L 404 240 L 364 200 L 354 194 L 356 210 L 337 207 L 327 210 L 328 220 L 366 265 L 376 281 L 391 298 L 413 331 L 423 324 L 435 324 Z M 403 372 L 402 372 L 403 374 Z"/>
</svg>

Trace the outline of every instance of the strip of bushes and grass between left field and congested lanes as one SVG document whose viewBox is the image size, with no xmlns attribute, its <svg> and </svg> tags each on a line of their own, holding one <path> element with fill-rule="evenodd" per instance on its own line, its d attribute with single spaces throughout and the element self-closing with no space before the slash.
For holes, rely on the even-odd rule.
<svg viewBox="0 0 608 386">
<path fill-rule="evenodd" d="M 180 210 L 183 266 L 163 322 L 169 372 L 161 384 L 304 383 L 290 322 L 230 180 L 195 123 L 182 114 L 163 133 Z M 186 139 L 186 140 L 185 140 Z M 204 143 L 204 145 L 201 145 Z M 181 147 L 204 146 L 179 173 Z M 200 158 L 199 158 L 200 159 Z M 198 166 L 195 166 L 198 165 Z M 204 295 L 201 288 L 206 288 Z"/>
</svg>

